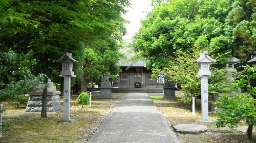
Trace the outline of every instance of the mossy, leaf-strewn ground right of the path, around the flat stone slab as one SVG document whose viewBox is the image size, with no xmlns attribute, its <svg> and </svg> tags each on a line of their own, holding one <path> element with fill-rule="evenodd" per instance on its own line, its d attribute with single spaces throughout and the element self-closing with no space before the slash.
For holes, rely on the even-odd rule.
<svg viewBox="0 0 256 143">
<path fill-rule="evenodd" d="M 181 93 L 178 93 L 181 94 Z M 199 143 L 199 142 L 256 142 L 256 133 L 253 133 L 253 141 L 249 141 L 245 133 L 241 133 L 232 130 L 230 133 L 224 133 L 223 131 L 214 132 L 211 130 L 212 127 L 216 127 L 214 124 L 202 124 L 198 123 L 197 120 L 201 119 L 201 101 L 196 99 L 195 116 L 189 109 L 189 106 L 178 99 L 161 99 L 163 94 L 148 94 L 157 106 L 158 110 L 162 113 L 165 121 L 169 126 L 172 124 L 200 124 L 206 125 L 208 131 L 198 135 L 185 135 L 176 134 L 181 142 Z M 176 94 L 177 95 L 177 94 Z M 212 99 L 209 106 L 212 104 Z M 209 110 L 209 119 L 214 121 L 216 117 L 213 112 Z M 245 123 L 241 123 L 241 126 L 247 126 Z"/>
</svg>

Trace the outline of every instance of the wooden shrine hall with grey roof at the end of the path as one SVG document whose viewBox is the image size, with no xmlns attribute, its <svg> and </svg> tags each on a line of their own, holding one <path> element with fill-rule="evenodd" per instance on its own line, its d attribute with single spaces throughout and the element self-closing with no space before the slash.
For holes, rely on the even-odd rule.
<svg viewBox="0 0 256 143">
<path fill-rule="evenodd" d="M 118 61 L 122 72 L 118 79 L 113 82 L 112 92 L 163 92 L 163 79 L 151 78 L 152 71 L 146 68 L 143 60 L 130 62 L 135 53 L 124 48 L 121 51 L 125 58 Z"/>
</svg>

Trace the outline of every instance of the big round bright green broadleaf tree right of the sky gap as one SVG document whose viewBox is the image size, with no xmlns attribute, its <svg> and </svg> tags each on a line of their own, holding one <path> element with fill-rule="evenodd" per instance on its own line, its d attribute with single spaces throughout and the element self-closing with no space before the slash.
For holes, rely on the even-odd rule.
<svg viewBox="0 0 256 143">
<path fill-rule="evenodd" d="M 161 71 L 169 61 L 175 59 L 176 51 L 190 53 L 193 48 L 209 48 L 211 56 L 218 59 L 215 66 L 224 67 L 226 55 L 234 46 L 231 30 L 221 17 L 228 11 L 222 5 L 226 1 L 211 1 L 217 8 L 208 6 L 209 1 L 167 1 L 156 5 L 134 36 L 133 47 L 142 51 L 147 65 L 154 71 Z M 204 9 L 204 10 L 203 10 Z M 227 8 L 228 9 L 228 8 Z M 207 16 L 204 12 L 220 12 L 220 17 Z"/>
</svg>

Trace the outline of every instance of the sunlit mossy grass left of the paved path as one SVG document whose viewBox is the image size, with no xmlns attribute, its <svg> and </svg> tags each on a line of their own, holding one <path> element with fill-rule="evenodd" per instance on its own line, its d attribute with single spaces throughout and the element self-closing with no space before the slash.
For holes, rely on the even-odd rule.
<svg viewBox="0 0 256 143">
<path fill-rule="evenodd" d="M 81 112 L 77 105 L 78 95 L 71 96 L 71 118 L 75 123 L 58 123 L 63 112 L 48 113 L 41 118 L 40 113 L 23 113 L 26 105 L 15 108 L 3 103 L 7 111 L 3 121 L 14 121 L 9 131 L 4 131 L 0 142 L 86 142 L 104 121 L 106 115 L 119 104 L 126 94 L 112 94 L 114 99 L 98 99 L 99 92 L 92 93 L 92 106 L 87 105 Z M 63 106 L 63 97 L 60 97 Z"/>
</svg>

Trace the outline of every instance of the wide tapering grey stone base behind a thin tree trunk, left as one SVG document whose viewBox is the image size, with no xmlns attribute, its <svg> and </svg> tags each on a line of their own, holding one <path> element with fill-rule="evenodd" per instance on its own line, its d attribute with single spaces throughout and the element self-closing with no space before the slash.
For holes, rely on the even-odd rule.
<svg viewBox="0 0 256 143">
<path fill-rule="evenodd" d="M 56 91 L 56 87 L 53 85 L 50 79 L 48 79 L 49 87 L 47 88 L 47 112 L 54 113 L 62 111 L 60 104 L 60 91 Z M 39 90 L 36 92 L 28 92 L 29 101 L 24 112 L 34 113 L 42 111 L 42 85 L 39 85 Z"/>
</svg>

